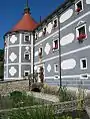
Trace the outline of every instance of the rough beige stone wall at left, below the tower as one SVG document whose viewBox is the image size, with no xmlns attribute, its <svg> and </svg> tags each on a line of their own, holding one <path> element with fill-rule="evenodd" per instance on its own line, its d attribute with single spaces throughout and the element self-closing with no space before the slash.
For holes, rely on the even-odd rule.
<svg viewBox="0 0 90 119">
<path fill-rule="evenodd" d="M 29 80 L 2 81 L 0 82 L 0 94 L 6 95 L 14 90 L 29 91 Z"/>
</svg>

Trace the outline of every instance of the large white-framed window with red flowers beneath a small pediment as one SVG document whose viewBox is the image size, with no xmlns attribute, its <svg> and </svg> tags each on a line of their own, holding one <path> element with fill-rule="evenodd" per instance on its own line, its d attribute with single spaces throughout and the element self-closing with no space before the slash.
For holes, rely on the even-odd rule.
<svg viewBox="0 0 90 119">
<path fill-rule="evenodd" d="M 86 24 L 83 24 L 76 28 L 76 37 L 79 41 L 82 41 L 83 39 L 87 38 Z"/>
</svg>

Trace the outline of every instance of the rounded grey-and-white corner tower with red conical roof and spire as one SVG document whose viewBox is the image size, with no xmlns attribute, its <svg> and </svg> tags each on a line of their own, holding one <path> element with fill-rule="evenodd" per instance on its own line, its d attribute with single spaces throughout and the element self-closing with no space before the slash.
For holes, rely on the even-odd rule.
<svg viewBox="0 0 90 119">
<path fill-rule="evenodd" d="M 27 0 L 22 19 L 4 35 L 4 80 L 20 80 L 33 73 L 33 30 L 37 25 Z"/>
</svg>

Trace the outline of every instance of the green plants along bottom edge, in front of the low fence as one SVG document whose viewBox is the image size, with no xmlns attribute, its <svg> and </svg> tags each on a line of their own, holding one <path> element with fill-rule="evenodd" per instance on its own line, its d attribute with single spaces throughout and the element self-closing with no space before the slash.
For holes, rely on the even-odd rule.
<svg viewBox="0 0 90 119">
<path fill-rule="evenodd" d="M 34 106 L 0 112 L 0 119 L 90 119 L 84 110 L 54 114 L 51 106 Z"/>
</svg>

